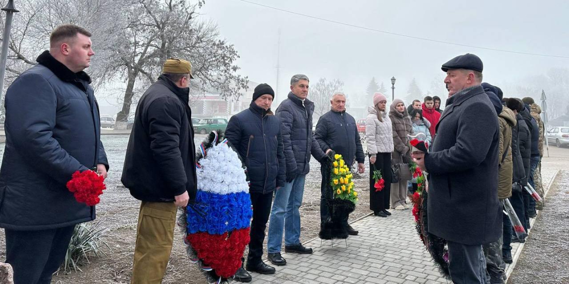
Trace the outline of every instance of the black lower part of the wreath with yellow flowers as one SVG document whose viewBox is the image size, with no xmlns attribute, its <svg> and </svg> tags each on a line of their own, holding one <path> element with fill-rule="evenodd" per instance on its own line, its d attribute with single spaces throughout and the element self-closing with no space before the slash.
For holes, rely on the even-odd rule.
<svg viewBox="0 0 569 284">
<path fill-rule="evenodd" d="M 321 164 L 324 167 L 322 178 L 325 184 L 324 198 L 328 206 L 328 218 L 321 225 L 318 236 L 323 240 L 347 239 L 348 235 L 348 215 L 356 210 L 356 204 L 352 201 L 334 198 L 332 189 L 332 170 L 334 151 L 327 155 L 330 157 Z"/>
</svg>

